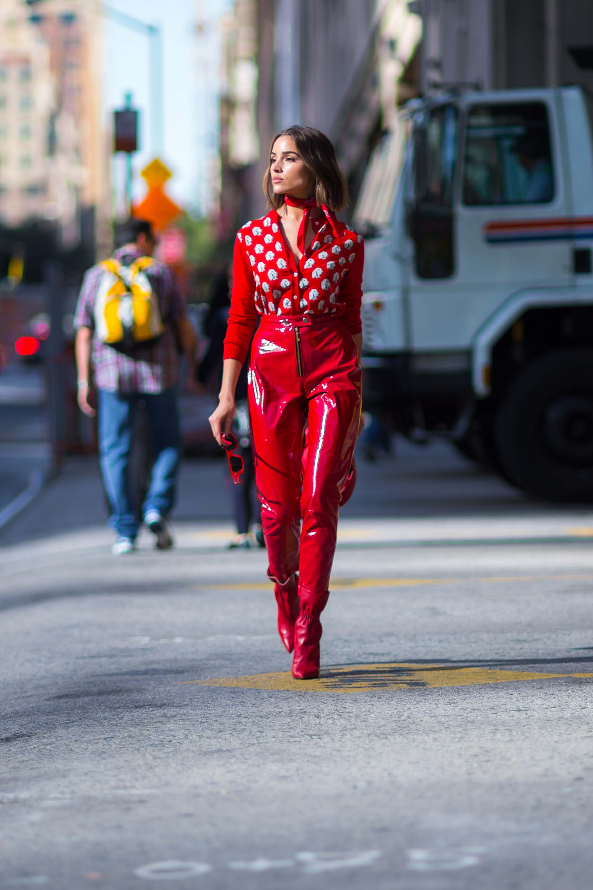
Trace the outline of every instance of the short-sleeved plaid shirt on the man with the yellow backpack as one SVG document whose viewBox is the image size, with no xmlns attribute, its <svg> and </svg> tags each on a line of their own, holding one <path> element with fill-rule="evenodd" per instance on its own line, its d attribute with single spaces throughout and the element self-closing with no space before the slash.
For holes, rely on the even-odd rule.
<svg viewBox="0 0 593 890">
<path fill-rule="evenodd" d="M 123 265 L 130 265 L 142 254 L 131 247 L 116 250 L 114 258 Z M 100 266 L 93 266 L 84 276 L 78 296 L 74 327 L 94 331 L 94 305 L 103 274 Z M 92 364 L 98 389 L 111 392 L 163 392 L 177 383 L 179 355 L 172 325 L 185 318 L 185 305 L 175 286 L 171 272 L 161 263 L 146 270 L 146 275 L 158 296 L 164 333 L 156 343 L 138 345 L 133 355 L 118 352 L 112 346 L 92 339 Z"/>
</svg>

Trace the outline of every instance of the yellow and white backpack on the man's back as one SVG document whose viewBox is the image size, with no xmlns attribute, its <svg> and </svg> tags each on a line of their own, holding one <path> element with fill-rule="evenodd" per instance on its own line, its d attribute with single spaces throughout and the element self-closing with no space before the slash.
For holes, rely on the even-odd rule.
<svg viewBox="0 0 593 890">
<path fill-rule="evenodd" d="M 146 270 L 153 265 L 140 256 L 129 266 L 117 260 L 100 263 L 103 275 L 95 300 L 95 336 L 100 343 L 124 351 L 148 344 L 163 334 L 164 324 Z"/>
</svg>

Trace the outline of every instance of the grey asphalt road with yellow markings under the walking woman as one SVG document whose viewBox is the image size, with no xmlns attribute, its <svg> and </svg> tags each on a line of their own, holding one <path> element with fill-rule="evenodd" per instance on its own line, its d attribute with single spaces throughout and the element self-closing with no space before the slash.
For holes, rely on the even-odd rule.
<svg viewBox="0 0 593 890">
<path fill-rule="evenodd" d="M 297 684 L 221 473 L 172 553 L 110 556 L 88 461 L 0 532 L 3 890 L 590 890 L 593 513 L 361 465 Z"/>
</svg>

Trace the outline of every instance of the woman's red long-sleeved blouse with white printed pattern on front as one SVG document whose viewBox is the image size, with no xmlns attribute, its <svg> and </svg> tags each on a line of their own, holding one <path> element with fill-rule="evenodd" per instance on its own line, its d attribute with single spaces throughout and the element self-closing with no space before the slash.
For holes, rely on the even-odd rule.
<svg viewBox="0 0 593 890">
<path fill-rule="evenodd" d="M 245 223 L 233 256 L 233 291 L 224 358 L 244 361 L 258 313 L 341 315 L 351 334 L 362 330 L 365 244 L 324 208 L 311 220 L 315 237 L 296 263 L 276 210 Z"/>
</svg>

